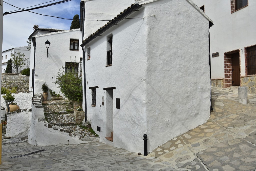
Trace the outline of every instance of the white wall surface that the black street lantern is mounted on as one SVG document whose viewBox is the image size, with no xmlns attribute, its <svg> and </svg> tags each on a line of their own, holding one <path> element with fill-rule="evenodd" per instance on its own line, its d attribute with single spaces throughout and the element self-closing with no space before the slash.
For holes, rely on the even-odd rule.
<svg viewBox="0 0 256 171">
<path fill-rule="evenodd" d="M 64 32 L 48 33 L 46 35 L 35 36 L 36 38 L 36 58 L 35 58 L 35 86 L 34 93 L 42 93 L 42 84 L 46 83 L 49 89 L 59 93 L 60 89 L 53 83 L 55 77 L 62 66 L 65 67 L 65 62 L 79 62 L 82 57 L 82 49 L 79 46 L 79 51 L 69 50 L 70 39 L 79 39 L 81 44 L 82 33 L 79 29 L 69 30 Z M 50 47 L 45 47 L 45 42 L 49 39 Z M 31 43 L 31 49 L 32 47 Z M 33 55 L 32 55 L 33 54 Z M 70 58 L 71 56 L 71 58 Z M 31 50 L 31 59 L 34 59 L 34 49 Z M 34 61 L 34 60 L 31 60 Z M 30 65 L 31 66 L 31 65 Z M 31 66 L 33 69 L 33 66 Z M 32 73 L 32 70 L 30 70 Z M 29 78 L 30 86 L 32 86 L 32 74 Z M 51 96 L 48 93 L 48 99 Z"/>
</svg>

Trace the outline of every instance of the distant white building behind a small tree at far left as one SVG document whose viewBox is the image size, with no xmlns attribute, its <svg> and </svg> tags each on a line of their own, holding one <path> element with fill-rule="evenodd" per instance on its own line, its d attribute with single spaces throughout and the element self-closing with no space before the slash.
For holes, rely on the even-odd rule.
<svg viewBox="0 0 256 171">
<path fill-rule="evenodd" d="M 17 52 L 20 52 L 21 54 L 24 53 L 25 59 L 27 58 L 24 61 L 27 64 L 25 67 L 29 67 L 30 51 L 27 49 L 27 47 L 28 46 L 17 47 L 2 52 L 2 73 L 5 73 L 8 60 L 12 57 L 11 55 L 14 54 L 16 56 Z M 16 73 L 16 70 L 14 68 L 12 68 L 12 71 L 13 73 Z"/>
</svg>

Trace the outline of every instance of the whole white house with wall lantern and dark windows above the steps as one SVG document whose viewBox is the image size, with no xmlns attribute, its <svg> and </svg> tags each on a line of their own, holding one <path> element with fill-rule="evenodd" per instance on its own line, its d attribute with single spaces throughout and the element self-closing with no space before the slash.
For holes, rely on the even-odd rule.
<svg viewBox="0 0 256 171">
<path fill-rule="evenodd" d="M 60 89 L 53 83 L 54 76 L 63 67 L 74 67 L 80 72 L 80 56 L 82 56 L 81 44 L 82 33 L 79 29 L 61 30 L 51 29 L 52 32 L 30 35 L 31 55 L 29 87 L 34 93 L 42 93 L 42 84 L 46 83 L 49 89 L 59 93 Z M 46 49 L 46 41 L 50 46 Z M 80 40 L 80 41 L 79 41 Z M 78 69 L 79 68 L 79 69 Z M 61 93 L 60 93 L 61 94 Z M 61 94 L 62 95 L 62 94 Z M 48 94 L 48 99 L 51 99 Z"/>
</svg>

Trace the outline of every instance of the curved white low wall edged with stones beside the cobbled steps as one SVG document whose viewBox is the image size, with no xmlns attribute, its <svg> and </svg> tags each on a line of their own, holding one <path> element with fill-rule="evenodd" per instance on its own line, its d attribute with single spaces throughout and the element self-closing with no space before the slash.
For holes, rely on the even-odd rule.
<svg viewBox="0 0 256 171">
<path fill-rule="evenodd" d="M 44 108 L 41 104 L 42 94 L 35 94 L 32 101 L 31 126 L 28 133 L 28 143 L 31 145 L 63 145 L 85 143 L 78 136 L 69 136 L 66 132 L 60 132 L 44 126 Z"/>
</svg>

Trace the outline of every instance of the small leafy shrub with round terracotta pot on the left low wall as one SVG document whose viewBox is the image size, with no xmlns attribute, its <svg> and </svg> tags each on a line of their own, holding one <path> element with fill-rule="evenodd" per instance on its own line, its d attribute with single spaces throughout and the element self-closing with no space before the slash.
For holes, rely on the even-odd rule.
<svg viewBox="0 0 256 171">
<path fill-rule="evenodd" d="M 6 104 L 6 111 L 7 112 L 13 112 L 17 109 L 19 109 L 19 106 L 17 106 L 17 103 L 14 103 L 15 95 L 12 95 L 12 93 L 16 93 L 16 87 L 12 88 L 12 90 L 6 89 L 6 94 L 3 96 L 5 104 Z"/>
</svg>

